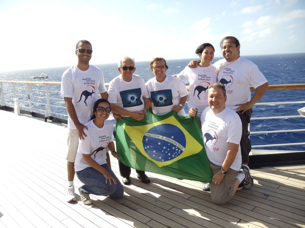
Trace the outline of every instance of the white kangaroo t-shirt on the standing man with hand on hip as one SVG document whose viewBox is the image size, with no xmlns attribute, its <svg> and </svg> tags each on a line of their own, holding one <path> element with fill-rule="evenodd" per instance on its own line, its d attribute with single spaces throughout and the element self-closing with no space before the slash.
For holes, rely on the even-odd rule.
<svg viewBox="0 0 305 228">
<path fill-rule="evenodd" d="M 258 67 L 243 57 L 239 57 L 234 62 L 220 59 L 213 65 L 219 69 L 217 81 L 226 87 L 226 106 L 233 110 L 236 109 L 237 104 L 251 100 L 250 85 L 257 88 L 267 82 Z"/>
</svg>

